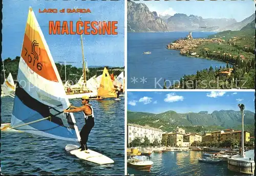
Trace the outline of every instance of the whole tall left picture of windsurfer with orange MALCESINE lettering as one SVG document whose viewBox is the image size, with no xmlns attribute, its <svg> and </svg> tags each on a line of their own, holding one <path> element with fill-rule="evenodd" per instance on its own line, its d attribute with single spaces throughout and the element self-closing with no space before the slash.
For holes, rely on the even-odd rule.
<svg viewBox="0 0 256 176">
<path fill-rule="evenodd" d="M 3 1 L 1 174 L 124 174 L 123 9 Z"/>
</svg>

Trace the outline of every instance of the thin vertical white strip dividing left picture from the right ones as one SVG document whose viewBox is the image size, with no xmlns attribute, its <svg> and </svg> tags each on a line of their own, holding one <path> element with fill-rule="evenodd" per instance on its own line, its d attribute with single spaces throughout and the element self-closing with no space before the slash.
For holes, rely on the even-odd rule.
<svg viewBox="0 0 256 176">
<path fill-rule="evenodd" d="M 124 175 L 127 175 L 127 0 L 124 1 L 124 80 L 125 80 L 125 97 L 124 97 Z"/>
</svg>

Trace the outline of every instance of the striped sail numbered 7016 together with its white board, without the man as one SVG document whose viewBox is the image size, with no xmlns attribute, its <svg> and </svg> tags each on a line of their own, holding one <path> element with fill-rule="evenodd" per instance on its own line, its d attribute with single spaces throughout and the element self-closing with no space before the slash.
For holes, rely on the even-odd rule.
<svg viewBox="0 0 256 176">
<path fill-rule="evenodd" d="M 78 142 L 81 137 L 75 117 L 73 113 L 63 112 L 69 106 L 49 47 L 30 7 L 18 66 L 11 129 Z M 114 163 L 96 151 L 79 151 L 77 145 L 68 144 L 65 149 L 83 160 L 97 164 Z"/>
</svg>

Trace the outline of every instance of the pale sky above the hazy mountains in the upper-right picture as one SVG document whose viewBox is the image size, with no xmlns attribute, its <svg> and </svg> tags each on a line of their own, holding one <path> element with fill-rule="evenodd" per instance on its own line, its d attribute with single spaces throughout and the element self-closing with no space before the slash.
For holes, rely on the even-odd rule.
<svg viewBox="0 0 256 176">
<path fill-rule="evenodd" d="M 238 22 L 249 17 L 255 12 L 254 2 L 245 1 L 139 1 L 144 3 L 150 11 L 157 14 L 184 13 L 203 18 L 234 18 Z"/>
</svg>

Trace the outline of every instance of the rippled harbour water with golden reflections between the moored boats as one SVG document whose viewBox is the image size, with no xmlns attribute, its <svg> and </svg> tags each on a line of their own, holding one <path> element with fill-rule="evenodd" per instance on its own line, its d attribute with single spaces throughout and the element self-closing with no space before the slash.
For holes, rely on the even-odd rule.
<svg viewBox="0 0 256 176">
<path fill-rule="evenodd" d="M 152 153 L 150 172 L 127 167 L 127 174 L 139 175 L 246 175 L 227 169 L 227 161 L 219 164 L 199 163 L 202 151 Z"/>
</svg>

